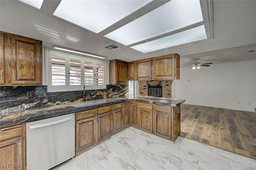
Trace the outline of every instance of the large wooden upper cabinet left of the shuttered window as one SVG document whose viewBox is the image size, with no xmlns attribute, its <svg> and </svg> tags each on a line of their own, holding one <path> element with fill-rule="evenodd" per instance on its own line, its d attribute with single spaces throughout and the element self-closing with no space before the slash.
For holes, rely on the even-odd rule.
<svg viewBox="0 0 256 170">
<path fill-rule="evenodd" d="M 41 86 L 42 41 L 5 32 L 1 32 L 0 40 L 1 85 Z"/>
</svg>

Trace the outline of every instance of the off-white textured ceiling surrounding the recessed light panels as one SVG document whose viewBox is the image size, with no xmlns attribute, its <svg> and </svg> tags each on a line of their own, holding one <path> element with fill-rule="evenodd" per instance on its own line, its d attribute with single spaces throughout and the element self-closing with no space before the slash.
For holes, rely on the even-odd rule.
<svg viewBox="0 0 256 170">
<path fill-rule="evenodd" d="M 200 58 L 201 63 L 214 64 L 256 60 L 256 52 L 248 53 L 250 50 L 256 50 L 255 0 L 214 0 L 214 38 L 145 54 L 54 17 L 52 14 L 59 2 L 44 1 L 41 10 L 38 10 L 16 0 L 1 0 L 0 30 L 42 40 L 43 46 L 46 47 L 64 46 L 106 56 L 108 60 L 117 58 L 133 61 L 172 53 L 180 54 L 181 66 L 189 65 L 193 58 Z M 131 17 L 135 19 L 138 16 Z M 122 49 L 111 51 L 104 48 L 112 43 Z"/>
</svg>

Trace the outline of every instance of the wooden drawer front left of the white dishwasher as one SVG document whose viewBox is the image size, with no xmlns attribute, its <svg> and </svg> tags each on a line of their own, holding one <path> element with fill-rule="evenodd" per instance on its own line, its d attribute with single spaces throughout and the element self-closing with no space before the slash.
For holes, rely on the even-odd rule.
<svg viewBox="0 0 256 170">
<path fill-rule="evenodd" d="M 22 136 L 24 134 L 24 125 L 11 126 L 0 129 L 0 141 Z"/>
</svg>

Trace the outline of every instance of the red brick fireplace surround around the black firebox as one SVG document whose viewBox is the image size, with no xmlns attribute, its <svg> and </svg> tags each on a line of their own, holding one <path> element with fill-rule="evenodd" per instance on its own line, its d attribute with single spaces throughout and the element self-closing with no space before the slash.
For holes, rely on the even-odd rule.
<svg viewBox="0 0 256 170">
<path fill-rule="evenodd" d="M 139 95 L 148 96 L 148 85 L 162 86 L 162 97 L 172 98 L 173 80 L 139 80 Z"/>
</svg>

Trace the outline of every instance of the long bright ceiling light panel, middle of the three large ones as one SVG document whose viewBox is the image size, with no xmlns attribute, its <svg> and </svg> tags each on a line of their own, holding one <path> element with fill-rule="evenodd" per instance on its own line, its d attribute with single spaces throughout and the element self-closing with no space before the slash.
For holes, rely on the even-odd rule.
<svg viewBox="0 0 256 170">
<path fill-rule="evenodd" d="M 105 37 L 130 45 L 201 21 L 199 0 L 171 0 Z"/>
</svg>

